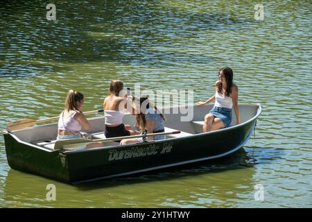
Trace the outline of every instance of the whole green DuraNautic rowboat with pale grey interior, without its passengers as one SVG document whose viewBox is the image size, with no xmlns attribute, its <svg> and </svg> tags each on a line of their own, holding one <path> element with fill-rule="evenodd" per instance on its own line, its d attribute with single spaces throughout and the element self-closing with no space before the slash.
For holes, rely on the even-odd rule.
<svg viewBox="0 0 312 222">
<path fill-rule="evenodd" d="M 2 131 L 8 164 L 12 169 L 34 173 L 69 183 L 91 182 L 133 173 L 164 169 L 181 164 L 223 157 L 238 151 L 254 132 L 261 105 L 239 105 L 241 124 L 232 111 L 232 126 L 202 133 L 202 124 L 212 104 L 162 108 L 166 115 L 165 132 L 180 130 L 166 139 L 120 146 L 105 142 L 103 147 L 54 150 L 58 124 Z M 191 119 L 185 110 L 191 110 Z M 189 119 L 188 119 L 189 118 Z M 87 131 L 92 139 L 105 139 L 103 115 L 92 117 Z M 135 125 L 135 117 L 125 114 L 125 124 Z"/>
</svg>

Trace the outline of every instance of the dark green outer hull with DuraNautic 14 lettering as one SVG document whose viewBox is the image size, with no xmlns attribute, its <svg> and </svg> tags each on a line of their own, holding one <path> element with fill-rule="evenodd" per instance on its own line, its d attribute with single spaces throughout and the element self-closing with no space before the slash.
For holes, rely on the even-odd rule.
<svg viewBox="0 0 312 222">
<path fill-rule="evenodd" d="M 156 142 L 94 148 L 83 151 L 46 151 L 4 134 L 12 169 L 62 182 L 90 182 L 180 164 L 223 157 L 249 139 L 257 119 L 224 130 Z"/>
</svg>

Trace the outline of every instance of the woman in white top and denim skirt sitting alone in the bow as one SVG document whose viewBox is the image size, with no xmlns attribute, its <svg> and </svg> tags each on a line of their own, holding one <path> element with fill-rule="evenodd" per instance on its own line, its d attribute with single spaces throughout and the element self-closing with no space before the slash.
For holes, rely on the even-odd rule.
<svg viewBox="0 0 312 222">
<path fill-rule="evenodd" d="M 233 71 L 229 67 L 223 67 L 218 73 L 219 80 L 216 81 L 216 94 L 205 102 L 197 105 L 205 105 L 216 101 L 214 108 L 205 116 L 203 132 L 227 128 L 232 121 L 232 108 L 236 115 L 236 124 L 241 123 L 239 115 L 239 88 L 233 83 Z"/>
</svg>

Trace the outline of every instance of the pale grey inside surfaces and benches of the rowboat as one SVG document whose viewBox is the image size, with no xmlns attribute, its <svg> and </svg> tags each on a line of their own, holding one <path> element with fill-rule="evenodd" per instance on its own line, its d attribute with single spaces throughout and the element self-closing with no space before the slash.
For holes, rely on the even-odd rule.
<svg viewBox="0 0 312 222">
<path fill-rule="evenodd" d="M 213 104 L 203 106 L 173 106 L 168 108 L 160 108 L 166 116 L 165 132 L 172 132 L 180 130 L 181 133 L 166 135 L 166 138 L 180 138 L 189 137 L 194 134 L 202 133 L 202 126 L 204 124 L 204 117 Z M 239 111 L 241 114 L 241 124 L 257 116 L 261 109 L 259 104 L 243 104 L 239 105 Z M 97 117 L 88 118 L 88 121 L 92 128 L 86 130 L 84 133 L 88 133 L 89 139 L 105 139 L 104 128 L 105 119 L 103 114 Z M 123 123 L 129 124 L 134 128 L 135 116 L 128 113 L 123 117 Z M 236 116 L 234 110 L 232 110 L 232 123 L 234 126 L 236 123 Z M 135 128 L 134 128 L 135 129 Z M 54 149 L 54 144 L 58 134 L 58 123 L 50 123 L 40 126 L 33 126 L 31 128 L 25 128 L 22 130 L 14 131 L 16 137 L 21 141 L 40 148 L 47 149 L 49 151 Z M 119 142 L 105 142 L 105 146 L 119 146 Z"/>
</svg>

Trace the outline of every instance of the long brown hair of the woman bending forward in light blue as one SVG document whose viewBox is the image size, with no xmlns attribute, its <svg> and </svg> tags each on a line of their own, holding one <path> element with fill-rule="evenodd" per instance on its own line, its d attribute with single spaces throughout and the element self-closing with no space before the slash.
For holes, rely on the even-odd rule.
<svg viewBox="0 0 312 222">
<path fill-rule="evenodd" d="M 166 121 L 166 117 L 164 116 L 164 114 L 162 114 L 162 112 L 160 112 L 155 105 L 150 103 L 148 96 L 141 95 L 139 98 L 133 97 L 133 100 L 139 101 L 140 103 L 139 105 L 140 112 L 139 114 L 137 114 L 137 126 L 139 126 L 141 130 L 144 130 L 146 127 L 146 118 L 145 118 L 146 110 L 148 110 L 152 106 L 154 107 L 154 110 L 156 111 L 156 113 L 159 114 L 160 117 L 162 117 L 164 121 Z"/>
</svg>

